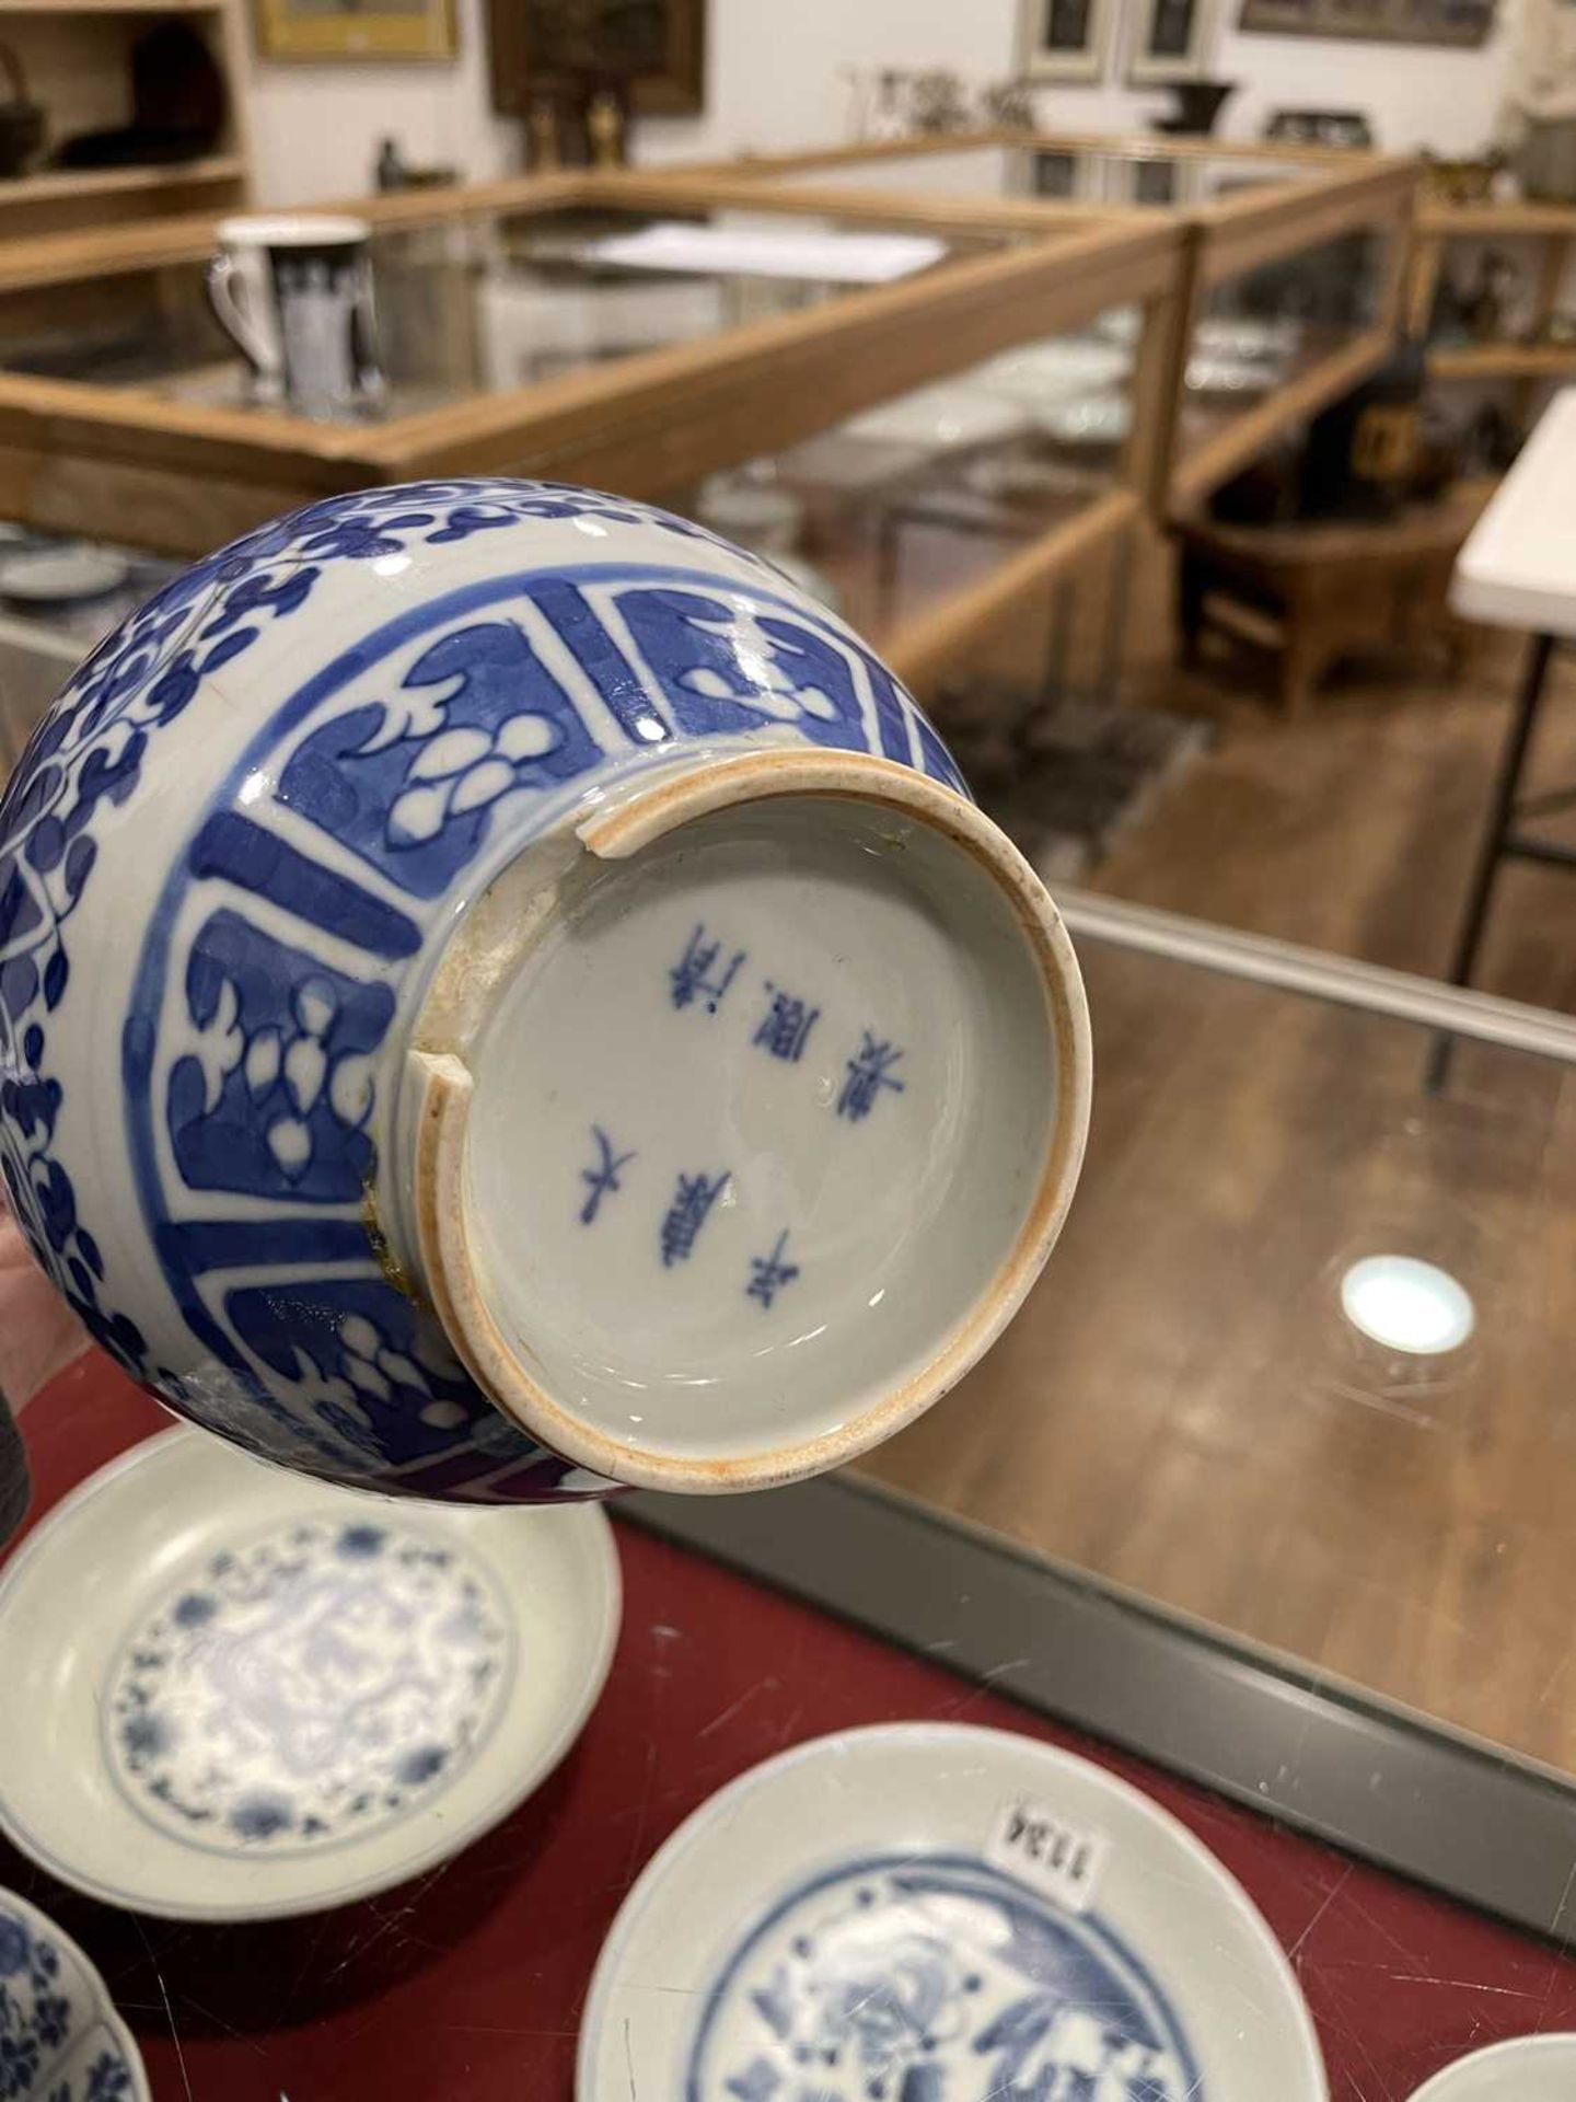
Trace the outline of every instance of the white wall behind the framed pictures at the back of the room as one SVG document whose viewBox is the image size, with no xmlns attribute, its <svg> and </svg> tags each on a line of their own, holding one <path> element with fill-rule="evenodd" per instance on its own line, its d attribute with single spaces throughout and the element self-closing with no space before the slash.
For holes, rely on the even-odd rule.
<svg viewBox="0 0 1576 2102">
<path fill-rule="evenodd" d="M 1236 19 L 1238 6 L 1221 0 L 1223 17 Z M 637 158 L 838 143 L 851 103 L 847 67 L 948 65 L 971 80 L 1000 78 L 1015 63 L 1015 19 L 1017 0 L 710 0 L 706 114 L 645 120 Z M 1278 103 L 1360 107 L 1385 147 L 1467 153 L 1494 128 L 1507 40 L 1502 25 L 1484 50 L 1460 53 L 1223 27 L 1212 74 L 1242 88 L 1227 103 L 1221 135 L 1259 137 Z M 1145 130 L 1162 107 L 1158 88 L 1053 88 L 1042 116 L 1070 130 Z M 408 160 L 454 162 L 475 179 L 519 164 L 519 126 L 494 118 L 488 103 L 483 0 L 460 0 L 456 65 L 254 61 L 252 128 L 265 204 L 366 189 L 387 132 Z"/>
</svg>

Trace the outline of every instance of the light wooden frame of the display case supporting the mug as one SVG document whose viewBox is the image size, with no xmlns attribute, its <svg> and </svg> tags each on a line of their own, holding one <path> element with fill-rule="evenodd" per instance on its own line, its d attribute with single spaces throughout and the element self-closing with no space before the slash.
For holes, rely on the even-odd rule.
<svg viewBox="0 0 1576 2102">
<path fill-rule="evenodd" d="M 588 172 L 408 191 L 353 208 L 380 229 L 401 229 L 494 210 L 639 210 L 647 193 L 662 210 L 702 212 L 729 204 L 735 189 L 712 179 L 651 185 Z M 883 198 L 807 204 L 765 189 L 750 208 L 859 225 L 904 217 Z M 920 217 L 941 233 L 996 238 L 969 208 L 908 223 Z M 1141 307 L 1133 433 L 1112 488 L 878 637 L 899 677 L 925 689 L 1007 610 L 1135 523 L 1164 439 L 1183 298 L 1181 227 L 1164 217 L 1118 225 L 1059 214 L 1011 231 L 1004 248 L 899 284 L 380 425 L 322 425 L 0 370 L 0 517 L 200 555 L 317 496 L 422 477 L 546 475 L 662 498 L 1017 343 L 1078 328 L 1116 305 Z M 67 320 L 74 303 L 101 311 L 116 280 L 198 263 L 210 248 L 210 219 L 0 244 L 0 324 Z"/>
</svg>

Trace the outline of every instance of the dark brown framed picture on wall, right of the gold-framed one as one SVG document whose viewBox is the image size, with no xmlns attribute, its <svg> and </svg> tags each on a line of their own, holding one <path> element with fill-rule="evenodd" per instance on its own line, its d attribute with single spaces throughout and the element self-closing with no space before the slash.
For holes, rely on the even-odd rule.
<svg viewBox="0 0 1576 2102">
<path fill-rule="evenodd" d="M 605 86 L 647 116 L 706 105 L 706 0 L 488 0 L 488 23 L 504 116 Z"/>
</svg>

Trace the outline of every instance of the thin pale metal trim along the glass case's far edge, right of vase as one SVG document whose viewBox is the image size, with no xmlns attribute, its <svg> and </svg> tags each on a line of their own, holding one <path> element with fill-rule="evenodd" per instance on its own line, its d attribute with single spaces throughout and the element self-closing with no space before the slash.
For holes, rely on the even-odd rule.
<svg viewBox="0 0 1576 2102">
<path fill-rule="evenodd" d="M 1240 933 L 1212 921 L 1162 912 L 1158 906 L 1099 898 L 1095 891 L 1057 885 L 1055 900 L 1067 929 L 1086 940 L 1576 1066 L 1576 1017 L 1557 1015 L 1547 1007 L 1500 1001 L 1412 971 L 1391 971 L 1378 963 L 1360 963 L 1355 956 L 1332 956 L 1328 950 L 1301 948 L 1297 942 L 1278 942 L 1271 935 Z"/>
</svg>

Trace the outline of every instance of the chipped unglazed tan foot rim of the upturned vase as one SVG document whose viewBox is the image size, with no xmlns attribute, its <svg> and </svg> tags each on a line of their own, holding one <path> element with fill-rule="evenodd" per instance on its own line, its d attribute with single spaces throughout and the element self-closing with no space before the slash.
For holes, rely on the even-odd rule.
<svg viewBox="0 0 1576 2102">
<path fill-rule="evenodd" d="M 702 1495 L 769 1488 L 822 1474 L 880 1444 L 946 1394 L 1013 1318 L 1061 1232 L 1078 1179 L 1088 1129 L 1091 1038 L 1072 942 L 1023 856 L 962 797 L 862 753 L 754 750 L 712 757 L 700 769 L 637 786 L 586 818 L 576 839 L 603 862 L 630 860 L 679 826 L 782 797 L 847 799 L 899 811 L 965 849 L 988 872 L 1023 935 L 1046 1001 L 1057 1091 L 1044 1165 L 990 1286 L 918 1371 L 820 1436 L 725 1457 L 651 1450 L 567 1408 L 494 1318 L 469 1221 L 475 1074 L 462 1051 L 422 1047 L 418 1032 L 408 1066 L 418 1089 L 412 1223 L 433 1310 L 473 1379 L 504 1415 L 565 1459 L 628 1486 Z"/>
</svg>

